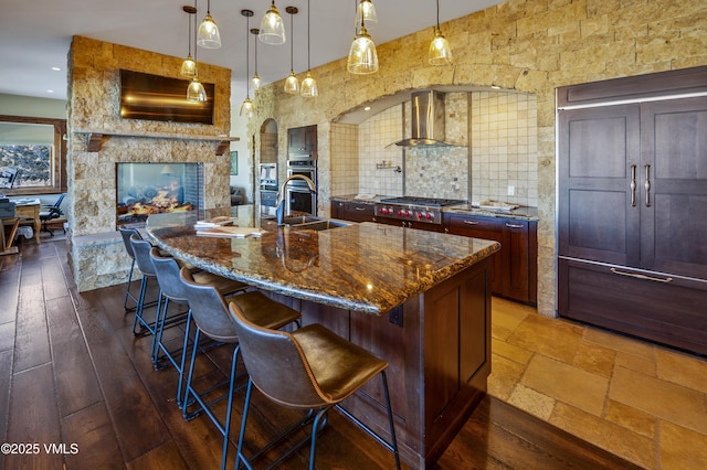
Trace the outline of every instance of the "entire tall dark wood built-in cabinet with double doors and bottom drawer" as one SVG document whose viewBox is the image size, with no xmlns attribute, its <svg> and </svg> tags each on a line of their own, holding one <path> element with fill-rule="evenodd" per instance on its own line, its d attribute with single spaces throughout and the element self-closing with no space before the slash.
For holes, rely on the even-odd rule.
<svg viewBox="0 0 707 470">
<path fill-rule="evenodd" d="M 560 316 L 707 354 L 707 67 L 558 106 Z"/>
</svg>

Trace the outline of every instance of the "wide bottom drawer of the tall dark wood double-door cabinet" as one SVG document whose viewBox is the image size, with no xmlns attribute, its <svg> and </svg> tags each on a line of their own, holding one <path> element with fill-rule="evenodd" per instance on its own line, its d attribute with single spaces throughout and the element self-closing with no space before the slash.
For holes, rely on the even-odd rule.
<svg viewBox="0 0 707 470">
<path fill-rule="evenodd" d="M 707 282 L 560 258 L 561 317 L 707 354 Z"/>
</svg>

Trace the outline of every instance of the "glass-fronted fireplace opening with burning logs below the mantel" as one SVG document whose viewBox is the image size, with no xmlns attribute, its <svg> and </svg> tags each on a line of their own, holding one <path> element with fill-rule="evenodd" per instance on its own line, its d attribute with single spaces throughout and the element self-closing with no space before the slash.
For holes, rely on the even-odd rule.
<svg viewBox="0 0 707 470">
<path fill-rule="evenodd" d="M 116 163 L 117 226 L 136 228 L 152 214 L 198 211 L 202 188 L 201 163 Z"/>
</svg>

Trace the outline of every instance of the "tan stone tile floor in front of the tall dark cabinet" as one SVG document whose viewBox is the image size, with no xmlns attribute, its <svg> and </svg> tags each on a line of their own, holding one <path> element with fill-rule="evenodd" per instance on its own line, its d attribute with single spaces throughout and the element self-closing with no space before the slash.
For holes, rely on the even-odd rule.
<svg viewBox="0 0 707 470">
<path fill-rule="evenodd" d="M 493 302 L 492 396 L 646 469 L 707 469 L 707 360 Z"/>
</svg>

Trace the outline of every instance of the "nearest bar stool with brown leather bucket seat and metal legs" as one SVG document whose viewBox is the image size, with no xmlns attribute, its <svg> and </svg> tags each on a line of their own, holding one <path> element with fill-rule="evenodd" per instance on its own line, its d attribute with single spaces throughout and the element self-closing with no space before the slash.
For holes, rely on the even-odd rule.
<svg viewBox="0 0 707 470">
<path fill-rule="evenodd" d="M 309 469 L 314 469 L 317 435 L 326 426 L 326 414 L 331 407 L 339 409 L 393 452 L 395 468 L 400 469 L 395 427 L 386 378 L 388 362 L 376 357 L 365 349 L 346 341 L 318 323 L 287 333 L 255 324 L 236 302 L 231 302 L 229 310 L 239 334 L 241 356 L 249 373 L 235 457 L 236 469 L 241 460 L 246 468 L 252 469 L 252 460 L 261 457 L 275 444 L 310 421 L 313 423 L 312 434 L 296 442 L 268 468 L 277 466 L 309 441 Z M 378 374 L 381 375 L 388 409 L 390 442 L 339 405 Z M 308 414 L 303 420 L 287 428 L 250 459 L 246 459 L 243 455 L 243 441 L 253 384 L 271 400 L 289 408 L 308 409 Z"/>
</svg>

